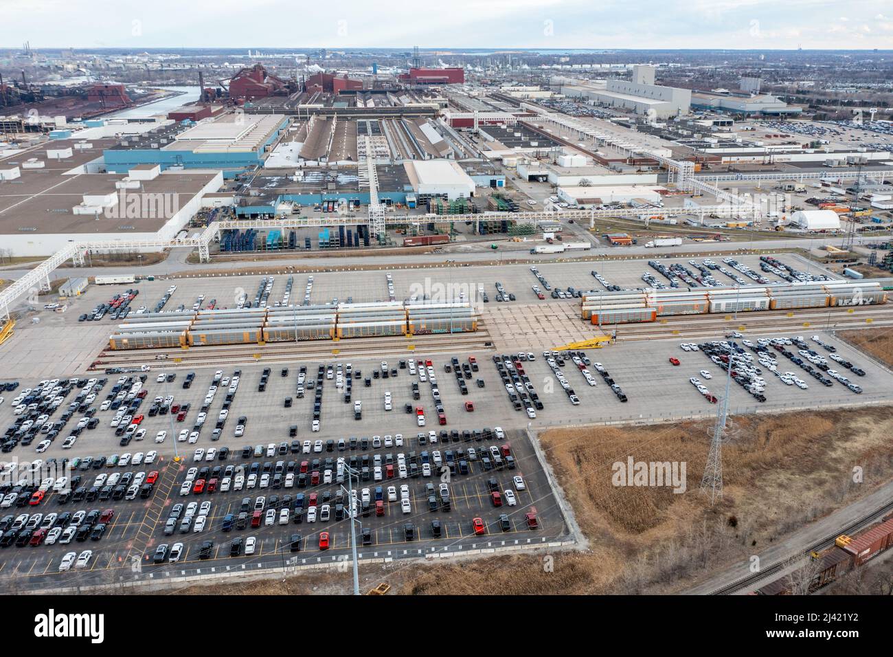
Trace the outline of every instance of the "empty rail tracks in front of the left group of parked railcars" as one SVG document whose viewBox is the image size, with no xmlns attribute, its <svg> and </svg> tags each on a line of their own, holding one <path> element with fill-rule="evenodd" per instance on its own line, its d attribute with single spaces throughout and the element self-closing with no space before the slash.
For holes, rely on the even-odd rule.
<svg viewBox="0 0 893 657">
<path fill-rule="evenodd" d="M 489 333 L 413 335 L 382 338 L 351 338 L 339 341 L 320 340 L 303 342 L 268 342 L 218 347 L 192 347 L 188 350 L 154 349 L 115 351 L 104 350 L 90 369 L 102 370 L 115 366 L 151 364 L 154 369 L 181 366 L 213 366 L 219 363 L 274 362 L 313 358 L 364 358 L 396 356 L 407 353 L 440 353 L 465 350 L 491 350 Z M 412 347 L 412 349 L 410 349 Z M 166 358 L 158 359 L 159 356 Z"/>
</svg>

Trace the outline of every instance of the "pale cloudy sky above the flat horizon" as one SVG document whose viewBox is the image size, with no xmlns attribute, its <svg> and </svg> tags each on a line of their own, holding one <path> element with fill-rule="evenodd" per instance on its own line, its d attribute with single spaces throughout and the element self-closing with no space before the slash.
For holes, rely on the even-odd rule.
<svg viewBox="0 0 893 657">
<path fill-rule="evenodd" d="M 890 0 L 0 0 L 0 46 L 893 49 Z"/>
</svg>

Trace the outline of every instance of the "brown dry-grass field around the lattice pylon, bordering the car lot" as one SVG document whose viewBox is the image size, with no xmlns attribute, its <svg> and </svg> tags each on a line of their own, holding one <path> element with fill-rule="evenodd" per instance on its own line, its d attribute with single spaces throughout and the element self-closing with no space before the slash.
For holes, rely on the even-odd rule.
<svg viewBox="0 0 893 657">
<path fill-rule="evenodd" d="M 505 555 L 361 571 L 400 594 L 637 594 L 680 591 L 707 569 L 741 559 L 893 476 L 889 407 L 738 417 L 723 447 L 725 491 L 710 508 L 698 491 L 711 423 L 556 429 L 547 457 L 588 537 L 586 552 Z M 612 466 L 685 461 L 687 491 L 617 487 Z M 865 484 L 852 483 L 854 466 Z M 349 571 L 194 586 L 177 593 L 289 594 L 349 591 Z"/>
</svg>

